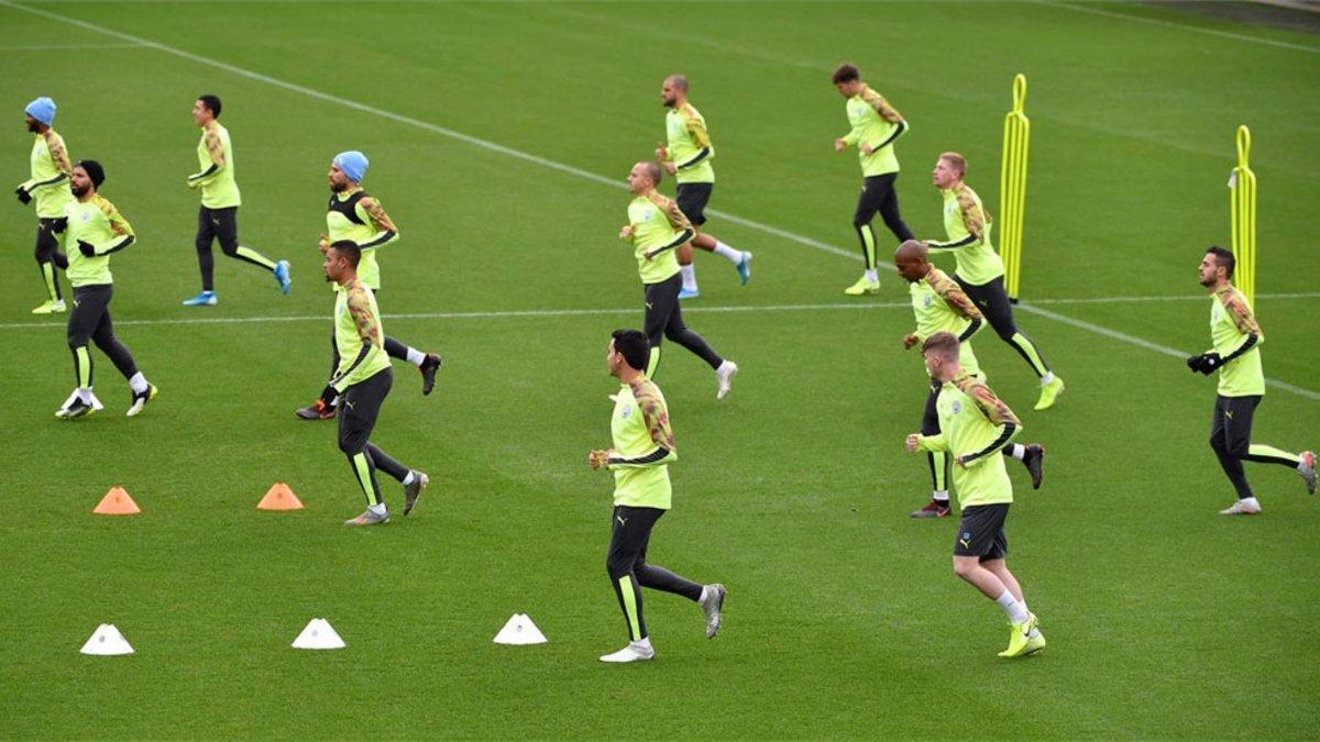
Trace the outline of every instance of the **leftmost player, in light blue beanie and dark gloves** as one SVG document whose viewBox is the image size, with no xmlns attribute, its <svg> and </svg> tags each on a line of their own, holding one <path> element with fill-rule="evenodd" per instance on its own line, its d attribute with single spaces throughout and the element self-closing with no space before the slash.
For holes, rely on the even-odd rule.
<svg viewBox="0 0 1320 742">
<path fill-rule="evenodd" d="M 58 314 L 67 309 L 59 292 L 59 277 L 55 268 L 69 268 L 67 257 L 59 252 L 57 232 L 65 218 L 65 206 L 73 201 L 73 194 L 65 181 L 73 174 L 69 151 L 65 140 L 51 125 L 55 123 L 55 102 L 38 98 L 24 108 L 28 131 L 37 135 L 32 144 L 32 177 L 18 184 L 15 195 L 24 205 L 37 201 L 37 267 L 46 283 L 46 301 L 32 310 L 33 314 Z"/>
</svg>

